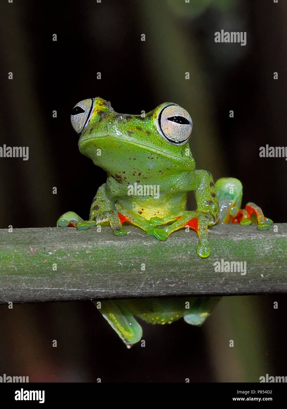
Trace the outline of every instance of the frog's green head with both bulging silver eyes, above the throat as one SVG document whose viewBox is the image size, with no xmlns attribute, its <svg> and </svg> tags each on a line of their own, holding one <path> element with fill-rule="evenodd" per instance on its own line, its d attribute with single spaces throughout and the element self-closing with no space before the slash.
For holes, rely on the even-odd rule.
<svg viewBox="0 0 287 409">
<path fill-rule="evenodd" d="M 125 115 L 102 98 L 85 99 L 73 108 L 71 122 L 80 152 L 108 172 L 194 167 L 188 146 L 192 119 L 174 103 Z"/>
</svg>

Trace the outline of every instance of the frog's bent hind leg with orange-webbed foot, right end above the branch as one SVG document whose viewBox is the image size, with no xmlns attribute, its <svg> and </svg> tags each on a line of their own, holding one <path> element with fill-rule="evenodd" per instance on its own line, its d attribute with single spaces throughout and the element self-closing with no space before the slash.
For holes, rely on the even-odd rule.
<svg viewBox="0 0 287 409">
<path fill-rule="evenodd" d="M 254 203 L 247 203 L 245 209 L 240 209 L 242 201 L 242 184 L 235 178 L 221 178 L 215 183 L 219 201 L 219 223 L 240 223 L 250 225 L 251 215 L 256 216 L 259 230 L 268 230 L 273 223 L 265 218 L 262 210 Z"/>
</svg>

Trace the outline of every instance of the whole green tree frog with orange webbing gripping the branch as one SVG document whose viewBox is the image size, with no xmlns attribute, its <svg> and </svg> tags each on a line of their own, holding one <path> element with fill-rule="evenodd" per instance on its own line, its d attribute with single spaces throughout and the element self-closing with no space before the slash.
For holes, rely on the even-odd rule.
<svg viewBox="0 0 287 409">
<path fill-rule="evenodd" d="M 116 236 L 125 236 L 123 223 L 131 223 L 166 240 L 188 226 L 199 237 L 197 254 L 208 257 L 208 227 L 218 222 L 249 225 L 251 215 L 258 229 L 272 224 L 254 203 L 240 209 L 239 180 L 222 178 L 214 183 L 209 172 L 195 169 L 188 146 L 192 119 L 181 106 L 168 102 L 147 114 L 125 115 L 97 97 L 77 103 L 71 122 L 79 135 L 79 151 L 107 172 L 107 180 L 97 190 L 88 221 L 69 211 L 57 221 L 59 227 L 85 230 L 110 225 Z M 195 192 L 194 211 L 186 210 L 189 191 Z M 129 347 L 142 337 L 134 316 L 152 324 L 170 324 L 183 317 L 189 324 L 201 325 L 219 298 L 105 300 L 100 311 Z"/>
</svg>

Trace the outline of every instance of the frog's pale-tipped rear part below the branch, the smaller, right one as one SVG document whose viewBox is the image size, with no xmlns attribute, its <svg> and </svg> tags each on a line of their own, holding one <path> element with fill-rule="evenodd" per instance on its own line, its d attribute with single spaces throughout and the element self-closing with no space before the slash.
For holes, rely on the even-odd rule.
<svg viewBox="0 0 287 409">
<path fill-rule="evenodd" d="M 221 297 L 194 297 L 192 305 L 186 310 L 183 319 L 188 324 L 201 325 L 209 317 Z"/>
</svg>

